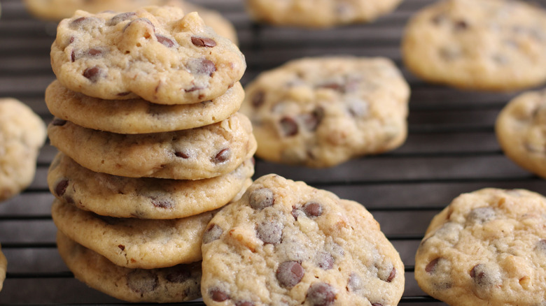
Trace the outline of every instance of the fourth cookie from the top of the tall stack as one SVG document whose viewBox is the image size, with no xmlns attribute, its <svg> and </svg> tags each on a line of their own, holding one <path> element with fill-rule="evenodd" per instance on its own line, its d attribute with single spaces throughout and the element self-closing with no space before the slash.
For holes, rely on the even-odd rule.
<svg viewBox="0 0 546 306">
<path fill-rule="evenodd" d="M 254 165 L 248 159 L 231 173 L 204 180 L 120 177 L 93 172 L 59 153 L 48 171 L 48 186 L 59 200 L 96 214 L 176 219 L 238 200 L 253 174 Z"/>
</svg>

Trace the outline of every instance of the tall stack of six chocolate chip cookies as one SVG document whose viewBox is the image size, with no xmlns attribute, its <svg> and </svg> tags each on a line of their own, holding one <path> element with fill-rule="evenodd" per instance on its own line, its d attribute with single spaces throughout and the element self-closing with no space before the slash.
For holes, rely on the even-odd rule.
<svg viewBox="0 0 546 306">
<path fill-rule="evenodd" d="M 253 175 L 244 56 L 197 13 L 151 6 L 77 11 L 51 63 L 48 185 L 66 265 L 122 300 L 199 298 L 205 228 Z"/>
</svg>

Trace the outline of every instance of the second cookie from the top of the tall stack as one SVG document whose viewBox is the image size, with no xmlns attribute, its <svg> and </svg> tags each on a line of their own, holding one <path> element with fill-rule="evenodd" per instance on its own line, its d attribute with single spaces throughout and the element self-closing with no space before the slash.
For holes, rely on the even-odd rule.
<svg viewBox="0 0 546 306">
<path fill-rule="evenodd" d="M 158 133 L 220 122 L 241 107 L 244 90 L 237 82 L 211 101 L 160 105 L 143 99 L 103 100 L 73 92 L 57 80 L 45 89 L 48 109 L 60 119 L 112 133 Z"/>
</svg>

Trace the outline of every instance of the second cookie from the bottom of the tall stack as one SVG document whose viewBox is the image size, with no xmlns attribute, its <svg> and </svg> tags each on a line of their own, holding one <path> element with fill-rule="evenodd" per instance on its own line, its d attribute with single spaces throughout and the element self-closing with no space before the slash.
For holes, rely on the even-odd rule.
<svg viewBox="0 0 546 306">
<path fill-rule="evenodd" d="M 216 211 L 169 219 L 112 218 L 55 199 L 55 226 L 80 245 L 125 268 L 165 268 L 201 260 L 202 235 Z"/>
</svg>

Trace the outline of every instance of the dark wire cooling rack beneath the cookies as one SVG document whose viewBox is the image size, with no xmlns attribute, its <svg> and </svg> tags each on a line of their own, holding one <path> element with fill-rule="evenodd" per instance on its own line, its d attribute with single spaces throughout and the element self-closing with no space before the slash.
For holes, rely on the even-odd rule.
<svg viewBox="0 0 546 306">
<path fill-rule="evenodd" d="M 243 84 L 260 71 L 305 56 L 384 56 L 400 67 L 412 87 L 409 136 L 402 147 L 320 170 L 258 159 L 255 177 L 277 173 L 365 205 L 405 263 L 407 280 L 400 303 L 445 305 L 426 296 L 414 281 L 414 254 L 430 219 L 458 194 L 484 187 L 546 193 L 544 180 L 505 158 L 493 132 L 498 112 L 514 94 L 461 92 L 429 85 L 405 70 L 399 50 L 403 27 L 415 10 L 433 1 L 405 0 L 372 24 L 328 30 L 254 24 L 248 20 L 242 1 L 195 0 L 220 10 L 234 22 L 248 64 Z M 55 78 L 49 52 L 56 24 L 34 19 L 20 0 L 0 3 L 0 96 L 24 101 L 49 122 L 52 116 L 43 96 Z M 55 153 L 55 148 L 46 144 L 31 187 L 0 203 L 0 243 L 8 258 L 0 304 L 125 304 L 78 282 L 57 254 L 56 228 L 50 216 L 53 197 L 45 180 Z"/>
</svg>

